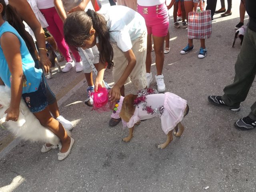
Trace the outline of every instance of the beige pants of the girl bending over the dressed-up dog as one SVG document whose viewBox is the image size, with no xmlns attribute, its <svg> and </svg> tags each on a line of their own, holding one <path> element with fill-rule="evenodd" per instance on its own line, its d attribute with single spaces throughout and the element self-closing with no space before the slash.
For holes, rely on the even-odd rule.
<svg viewBox="0 0 256 192">
<path fill-rule="evenodd" d="M 112 70 L 114 83 L 118 82 L 124 70 L 128 64 L 128 60 L 126 59 L 124 52 L 116 45 L 116 43 L 112 44 L 114 50 L 114 67 Z M 146 32 L 132 41 L 132 51 L 136 58 L 136 65 L 134 66 L 131 74 L 130 80 L 134 84 L 136 90 L 141 90 L 146 88 L 146 52 L 147 52 L 147 34 Z M 126 80 L 125 83 L 129 82 Z"/>
</svg>

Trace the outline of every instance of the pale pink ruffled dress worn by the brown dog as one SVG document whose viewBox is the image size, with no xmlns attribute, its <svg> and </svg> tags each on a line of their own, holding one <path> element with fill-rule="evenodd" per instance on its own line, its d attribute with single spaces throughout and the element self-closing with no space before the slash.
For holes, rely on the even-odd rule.
<svg viewBox="0 0 256 192">
<path fill-rule="evenodd" d="M 118 103 L 118 110 L 116 113 L 112 114 L 112 118 L 118 118 L 119 113 L 122 108 L 124 97 L 121 96 L 121 99 Z M 182 99 L 176 94 L 166 92 L 164 94 L 150 94 L 146 96 L 146 102 L 148 106 L 151 106 L 151 108 L 159 108 L 161 106 L 164 106 L 164 111 L 161 118 L 161 125 L 162 130 L 165 134 L 168 134 L 169 131 L 173 130 L 174 127 L 182 121 L 184 111 L 187 106 L 187 101 Z M 142 110 L 143 106 L 142 104 L 138 104 L 138 107 L 136 107 L 133 116 L 130 118 L 129 122 L 125 122 L 122 120 L 123 126 L 132 128 L 134 124 L 140 120 L 145 120 L 152 118 L 154 116 L 158 116 L 157 113 L 148 114 L 146 110 Z"/>
</svg>

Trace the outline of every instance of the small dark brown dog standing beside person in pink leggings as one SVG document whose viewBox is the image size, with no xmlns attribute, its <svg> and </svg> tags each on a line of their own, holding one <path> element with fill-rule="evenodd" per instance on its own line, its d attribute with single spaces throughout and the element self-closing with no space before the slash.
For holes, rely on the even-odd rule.
<svg viewBox="0 0 256 192">
<path fill-rule="evenodd" d="M 52 63 L 52 67 L 55 66 L 55 64 L 58 67 L 58 72 L 61 72 L 61 68 L 60 68 L 60 64 L 57 60 L 57 55 L 55 53 L 55 51 L 58 50 L 56 41 L 54 40 L 54 38 L 51 37 L 47 37 L 46 39 L 46 49 L 47 49 L 47 54 L 48 54 L 48 58 L 50 60 L 50 62 Z M 52 68 L 50 68 L 49 70 L 49 75 L 47 76 L 47 79 L 51 79 L 52 78 Z"/>
</svg>

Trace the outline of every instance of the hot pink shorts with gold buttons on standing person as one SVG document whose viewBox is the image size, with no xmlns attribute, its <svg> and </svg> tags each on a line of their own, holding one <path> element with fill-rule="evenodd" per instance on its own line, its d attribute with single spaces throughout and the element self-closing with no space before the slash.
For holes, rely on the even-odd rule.
<svg viewBox="0 0 256 192">
<path fill-rule="evenodd" d="M 167 35 L 169 28 L 168 9 L 165 4 L 155 6 L 140 6 L 138 12 L 144 17 L 148 34 L 157 37 Z"/>
</svg>

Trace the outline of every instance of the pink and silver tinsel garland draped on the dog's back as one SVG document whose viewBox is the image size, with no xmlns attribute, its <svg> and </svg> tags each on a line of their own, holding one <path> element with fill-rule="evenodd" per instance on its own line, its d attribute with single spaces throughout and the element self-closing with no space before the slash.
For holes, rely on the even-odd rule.
<svg viewBox="0 0 256 192">
<path fill-rule="evenodd" d="M 159 108 L 152 108 L 147 105 L 146 96 L 151 94 L 158 94 L 158 91 L 152 88 L 145 88 L 138 91 L 138 97 L 134 100 L 134 106 L 139 108 L 139 104 L 142 106 L 142 110 L 146 111 L 148 114 L 157 114 L 159 117 L 164 112 L 164 106 L 160 106 Z"/>
</svg>

